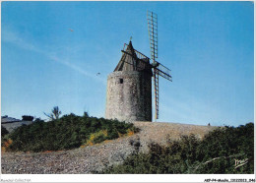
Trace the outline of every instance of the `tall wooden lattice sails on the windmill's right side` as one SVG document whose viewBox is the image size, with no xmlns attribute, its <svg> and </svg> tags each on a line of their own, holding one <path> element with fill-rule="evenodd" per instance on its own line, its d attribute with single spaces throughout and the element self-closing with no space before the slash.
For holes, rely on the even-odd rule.
<svg viewBox="0 0 256 183">
<path fill-rule="evenodd" d="M 154 89 L 155 89 L 155 107 L 156 114 L 155 119 L 159 119 L 160 112 L 160 76 L 170 82 L 170 70 L 163 65 L 161 65 L 156 59 L 159 58 L 159 50 L 158 50 L 158 15 L 147 11 L 147 19 L 148 19 L 148 30 L 150 36 L 150 48 L 151 48 L 151 59 L 153 66 L 153 77 L 154 77 Z"/>
</svg>

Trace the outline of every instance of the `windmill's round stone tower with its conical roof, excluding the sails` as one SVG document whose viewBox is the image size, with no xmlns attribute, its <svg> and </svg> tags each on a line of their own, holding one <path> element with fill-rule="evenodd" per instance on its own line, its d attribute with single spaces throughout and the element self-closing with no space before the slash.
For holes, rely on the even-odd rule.
<svg viewBox="0 0 256 183">
<path fill-rule="evenodd" d="M 120 121 L 152 121 L 150 59 L 125 44 L 114 72 L 107 78 L 105 117 Z"/>
</svg>

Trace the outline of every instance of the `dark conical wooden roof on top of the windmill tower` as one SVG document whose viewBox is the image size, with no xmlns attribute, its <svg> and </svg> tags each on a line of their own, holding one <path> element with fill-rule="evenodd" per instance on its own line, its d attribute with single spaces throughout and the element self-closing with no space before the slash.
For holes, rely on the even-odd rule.
<svg viewBox="0 0 256 183">
<path fill-rule="evenodd" d="M 137 51 L 138 52 L 138 51 Z M 114 71 L 150 71 L 151 66 L 149 59 L 140 59 L 133 48 L 132 41 L 129 42 L 125 52 L 118 62 Z"/>
</svg>

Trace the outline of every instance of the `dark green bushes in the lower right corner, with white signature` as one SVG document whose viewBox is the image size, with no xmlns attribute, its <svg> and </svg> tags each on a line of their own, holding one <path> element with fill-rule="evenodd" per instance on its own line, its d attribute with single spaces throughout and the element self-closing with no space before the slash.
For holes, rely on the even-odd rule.
<svg viewBox="0 0 256 183">
<path fill-rule="evenodd" d="M 123 164 L 100 173 L 201 173 L 234 174 L 254 172 L 254 124 L 224 127 L 203 140 L 195 135 L 169 141 L 167 146 L 151 144 L 148 153 L 130 155 Z M 236 164 L 235 164 L 236 160 Z M 237 164 L 237 160 L 240 161 Z"/>
</svg>

